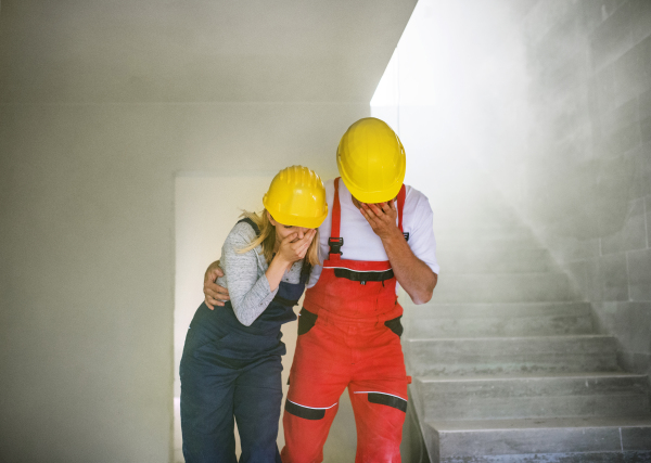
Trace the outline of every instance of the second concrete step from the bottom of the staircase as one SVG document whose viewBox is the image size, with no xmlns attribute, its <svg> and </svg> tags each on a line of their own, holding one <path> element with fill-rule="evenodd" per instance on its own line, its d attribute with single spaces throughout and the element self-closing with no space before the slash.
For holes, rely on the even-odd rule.
<svg viewBox="0 0 651 463">
<path fill-rule="evenodd" d="M 419 415 L 435 420 L 648 416 L 649 378 L 628 373 L 417 377 Z"/>
</svg>

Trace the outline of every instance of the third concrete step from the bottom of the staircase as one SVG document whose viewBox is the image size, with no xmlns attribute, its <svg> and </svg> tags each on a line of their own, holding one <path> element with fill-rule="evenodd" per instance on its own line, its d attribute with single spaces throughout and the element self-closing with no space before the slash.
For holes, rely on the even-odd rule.
<svg viewBox="0 0 651 463">
<path fill-rule="evenodd" d="M 406 338 L 413 376 L 618 371 L 616 340 L 605 335 Z"/>
</svg>

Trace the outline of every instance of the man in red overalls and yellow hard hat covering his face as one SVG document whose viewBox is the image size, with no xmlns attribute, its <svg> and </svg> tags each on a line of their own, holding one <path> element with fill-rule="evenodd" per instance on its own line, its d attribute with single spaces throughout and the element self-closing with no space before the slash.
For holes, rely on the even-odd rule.
<svg viewBox="0 0 651 463">
<path fill-rule="evenodd" d="M 409 377 L 400 346 L 399 283 L 414 304 L 436 286 L 432 209 L 403 184 L 405 150 L 382 120 L 353 124 L 337 149 L 341 178 L 327 182 L 329 217 L 319 228 L 322 266 L 312 270 L 298 319 L 283 425 L 285 463 L 321 462 L 348 388 L 357 425 L 356 462 L 399 462 Z M 206 303 L 227 295 L 206 272 Z"/>
</svg>

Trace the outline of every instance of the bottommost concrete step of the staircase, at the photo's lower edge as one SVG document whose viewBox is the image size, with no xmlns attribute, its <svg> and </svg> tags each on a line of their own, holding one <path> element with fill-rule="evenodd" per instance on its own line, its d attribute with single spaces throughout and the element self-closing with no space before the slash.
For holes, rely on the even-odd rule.
<svg viewBox="0 0 651 463">
<path fill-rule="evenodd" d="M 430 421 L 424 437 L 431 460 L 442 463 L 648 462 L 651 456 L 651 419 Z"/>
</svg>

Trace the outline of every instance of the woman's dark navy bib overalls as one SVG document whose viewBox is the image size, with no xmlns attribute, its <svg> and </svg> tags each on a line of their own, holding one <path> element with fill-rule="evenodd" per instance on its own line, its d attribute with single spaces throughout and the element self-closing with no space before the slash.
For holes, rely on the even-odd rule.
<svg viewBox="0 0 651 463">
<path fill-rule="evenodd" d="M 292 307 L 306 276 L 298 284 L 281 282 L 251 326 L 240 323 L 230 303 L 215 310 L 204 303 L 194 313 L 180 366 L 186 463 L 235 463 L 233 419 L 242 445 L 240 462 L 280 463 L 276 439 L 281 356 L 286 352 L 280 325 L 296 320 Z"/>
</svg>

